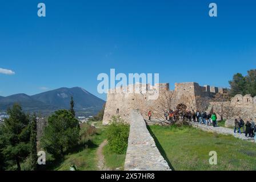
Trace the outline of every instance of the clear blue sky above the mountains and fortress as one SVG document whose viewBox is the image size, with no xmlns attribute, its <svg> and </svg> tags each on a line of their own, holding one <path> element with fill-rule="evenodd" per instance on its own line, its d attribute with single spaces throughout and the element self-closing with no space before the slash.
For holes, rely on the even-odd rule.
<svg viewBox="0 0 256 182">
<path fill-rule="evenodd" d="M 46 4 L 46 17 L 37 4 Z M 209 3 L 218 5 L 210 18 Z M 159 73 L 160 82 L 229 86 L 256 63 L 256 2 L 1 1 L 0 96 L 81 86 L 97 76 Z"/>
</svg>

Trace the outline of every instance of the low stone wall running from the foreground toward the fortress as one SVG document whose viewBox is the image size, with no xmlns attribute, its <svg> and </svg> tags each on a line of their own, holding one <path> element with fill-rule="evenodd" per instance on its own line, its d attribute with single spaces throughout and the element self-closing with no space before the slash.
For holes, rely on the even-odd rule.
<svg viewBox="0 0 256 182">
<path fill-rule="evenodd" d="M 125 158 L 125 171 L 167 171 L 171 170 L 160 154 L 146 123 L 138 110 L 130 114 L 130 134 Z"/>
</svg>

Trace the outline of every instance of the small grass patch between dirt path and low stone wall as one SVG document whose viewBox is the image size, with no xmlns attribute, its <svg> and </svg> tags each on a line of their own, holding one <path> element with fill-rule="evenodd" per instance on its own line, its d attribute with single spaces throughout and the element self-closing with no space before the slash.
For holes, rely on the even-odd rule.
<svg viewBox="0 0 256 182">
<path fill-rule="evenodd" d="M 126 154 L 115 154 L 111 152 L 110 147 L 107 144 L 103 148 L 103 155 L 105 156 L 105 164 L 107 168 L 110 168 L 111 170 L 115 170 L 117 168 L 119 168 L 119 170 L 123 170 Z"/>
</svg>

